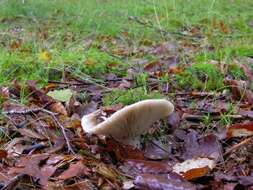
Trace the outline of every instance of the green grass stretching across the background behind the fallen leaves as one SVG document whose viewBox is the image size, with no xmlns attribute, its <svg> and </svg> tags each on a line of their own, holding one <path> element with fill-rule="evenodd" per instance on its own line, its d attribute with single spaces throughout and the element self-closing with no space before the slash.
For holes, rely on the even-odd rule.
<svg viewBox="0 0 253 190">
<path fill-rule="evenodd" d="M 231 64 L 234 58 L 253 56 L 252 0 L 22 2 L 0 2 L 0 85 L 8 85 L 14 78 L 35 79 L 46 84 L 50 68 L 62 70 L 66 66 L 93 76 L 108 72 L 125 76 L 129 60 L 155 57 L 149 53 L 138 54 L 144 41 L 151 42 L 146 46 L 165 40 L 179 45 L 182 41 L 195 43 L 198 51 L 180 54 L 181 60 L 186 60 L 182 64 L 189 65 L 210 60 Z M 136 17 L 151 27 L 129 17 Z M 172 35 L 160 33 L 159 29 Z M 199 30 L 202 40 L 192 41 L 182 35 L 192 29 Z M 137 53 L 114 56 L 120 48 L 137 48 Z M 44 51 L 52 56 L 49 63 L 39 58 Z M 208 88 L 219 87 L 220 84 Z M 196 85 L 196 88 L 202 87 Z"/>
</svg>

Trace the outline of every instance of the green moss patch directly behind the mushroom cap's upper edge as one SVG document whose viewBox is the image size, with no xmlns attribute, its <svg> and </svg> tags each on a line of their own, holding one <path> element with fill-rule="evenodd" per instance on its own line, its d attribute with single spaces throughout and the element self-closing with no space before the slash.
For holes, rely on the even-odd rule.
<svg viewBox="0 0 253 190">
<path fill-rule="evenodd" d="M 162 95 L 158 92 L 147 93 L 143 88 L 136 88 L 131 90 L 114 90 L 110 94 L 105 95 L 103 103 L 105 106 L 123 103 L 125 105 L 133 104 L 135 102 L 151 99 L 161 98 Z"/>
</svg>

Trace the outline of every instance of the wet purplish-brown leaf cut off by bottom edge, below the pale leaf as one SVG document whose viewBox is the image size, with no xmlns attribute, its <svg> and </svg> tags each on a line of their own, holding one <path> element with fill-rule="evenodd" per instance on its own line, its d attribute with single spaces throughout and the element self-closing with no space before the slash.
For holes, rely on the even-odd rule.
<svg viewBox="0 0 253 190">
<path fill-rule="evenodd" d="M 134 180 L 136 189 L 145 190 L 195 190 L 196 187 L 179 175 L 171 173 L 168 175 L 142 174 Z"/>
</svg>

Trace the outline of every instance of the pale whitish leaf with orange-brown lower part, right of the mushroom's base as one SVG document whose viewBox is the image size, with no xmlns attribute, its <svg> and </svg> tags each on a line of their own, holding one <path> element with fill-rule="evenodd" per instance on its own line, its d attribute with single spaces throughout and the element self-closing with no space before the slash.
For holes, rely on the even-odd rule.
<svg viewBox="0 0 253 190">
<path fill-rule="evenodd" d="M 189 159 L 173 166 L 173 172 L 191 180 L 206 175 L 215 167 L 215 161 L 210 158 Z"/>
</svg>

